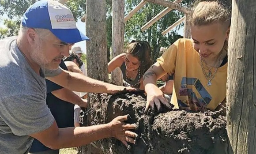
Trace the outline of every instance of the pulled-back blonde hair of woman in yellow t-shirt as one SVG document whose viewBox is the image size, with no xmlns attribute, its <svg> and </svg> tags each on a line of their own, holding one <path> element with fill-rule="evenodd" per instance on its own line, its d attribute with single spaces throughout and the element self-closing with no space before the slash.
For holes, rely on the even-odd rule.
<svg viewBox="0 0 256 154">
<path fill-rule="evenodd" d="M 220 1 L 202 1 L 192 10 L 191 25 L 203 26 L 221 23 L 227 29 L 230 26 L 231 11 L 227 4 Z"/>
</svg>

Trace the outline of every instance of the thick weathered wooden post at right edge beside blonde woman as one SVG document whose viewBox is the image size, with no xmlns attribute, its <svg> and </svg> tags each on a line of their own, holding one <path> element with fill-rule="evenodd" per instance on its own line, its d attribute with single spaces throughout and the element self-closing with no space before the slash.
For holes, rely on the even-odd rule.
<svg viewBox="0 0 256 154">
<path fill-rule="evenodd" d="M 227 79 L 230 154 L 255 154 L 256 151 L 255 57 L 255 0 L 233 0 Z"/>
</svg>

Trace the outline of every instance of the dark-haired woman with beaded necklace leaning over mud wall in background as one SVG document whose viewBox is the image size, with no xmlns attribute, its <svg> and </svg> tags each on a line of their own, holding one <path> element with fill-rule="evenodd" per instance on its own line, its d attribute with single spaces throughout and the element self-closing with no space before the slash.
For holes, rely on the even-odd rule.
<svg viewBox="0 0 256 154">
<path fill-rule="evenodd" d="M 132 41 L 126 47 L 126 52 L 114 57 L 108 63 L 111 73 L 119 67 L 123 75 L 124 86 L 131 86 L 144 90 L 142 76 L 151 66 L 152 49 L 147 41 Z"/>
</svg>

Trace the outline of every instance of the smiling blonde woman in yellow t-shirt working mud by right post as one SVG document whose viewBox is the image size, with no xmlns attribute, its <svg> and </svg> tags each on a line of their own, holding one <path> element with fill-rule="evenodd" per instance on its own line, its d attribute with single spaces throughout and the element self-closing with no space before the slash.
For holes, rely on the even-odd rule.
<svg viewBox="0 0 256 154">
<path fill-rule="evenodd" d="M 227 79 L 227 40 L 231 12 L 224 4 L 203 1 L 193 9 L 192 39 L 179 39 L 167 49 L 143 76 L 147 105 L 171 105 L 156 86 L 157 79 L 174 74 L 171 104 L 174 108 L 200 111 L 215 110 L 225 104 Z"/>
</svg>

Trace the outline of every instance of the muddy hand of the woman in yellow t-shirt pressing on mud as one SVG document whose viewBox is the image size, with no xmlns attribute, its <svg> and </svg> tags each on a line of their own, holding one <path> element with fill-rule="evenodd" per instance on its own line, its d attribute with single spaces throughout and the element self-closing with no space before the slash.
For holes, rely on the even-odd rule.
<svg viewBox="0 0 256 154">
<path fill-rule="evenodd" d="M 155 111 L 154 109 L 155 106 L 157 107 L 158 113 L 160 113 L 161 103 L 167 109 L 169 110 L 172 109 L 172 106 L 164 97 L 163 92 L 158 87 L 152 87 L 152 90 L 147 94 L 147 104 L 146 104 L 146 109 L 144 113 L 147 114 L 149 108 L 151 108 L 152 111 Z"/>
</svg>

